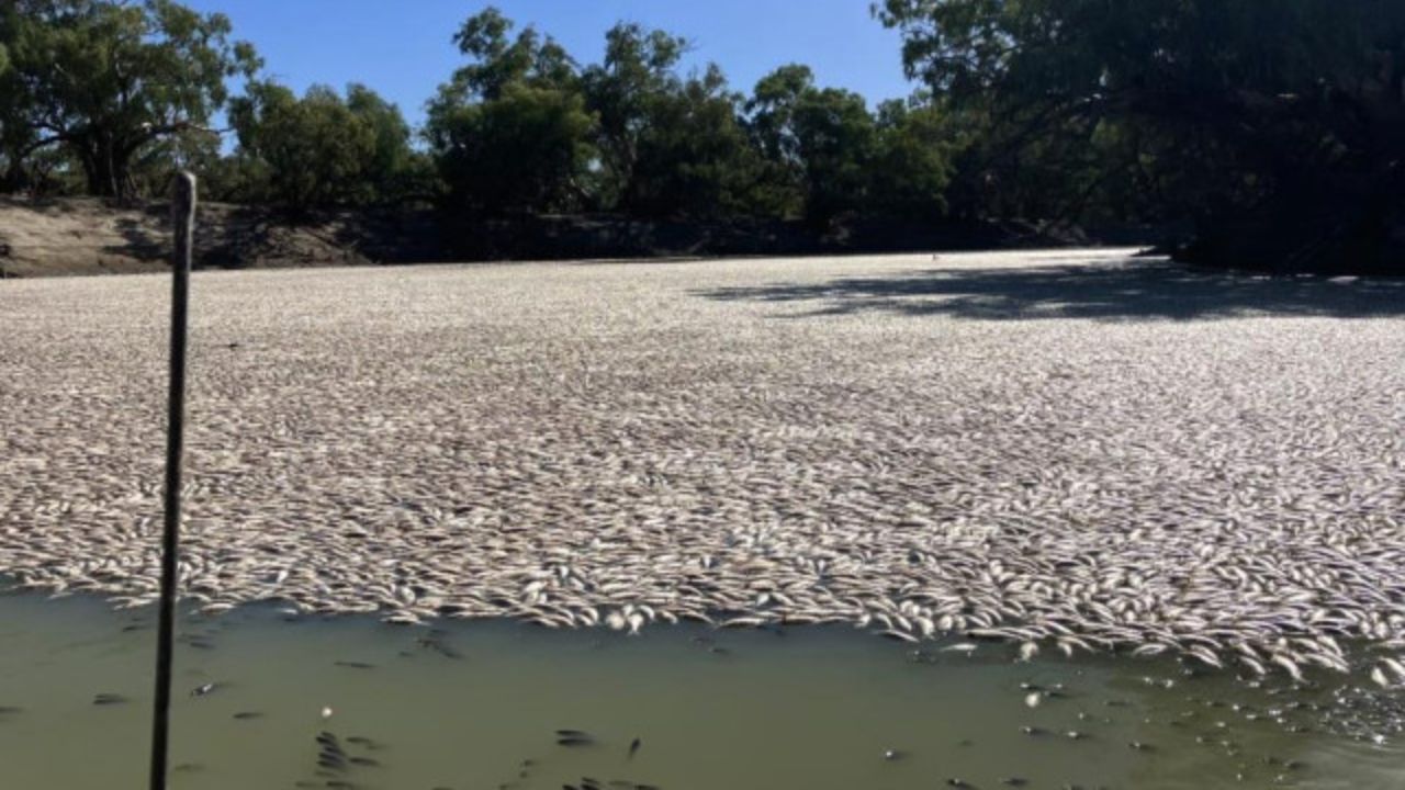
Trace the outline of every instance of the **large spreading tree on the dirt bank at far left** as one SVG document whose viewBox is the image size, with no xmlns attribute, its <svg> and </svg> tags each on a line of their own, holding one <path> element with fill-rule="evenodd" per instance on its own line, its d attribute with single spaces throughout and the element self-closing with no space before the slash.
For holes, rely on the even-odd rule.
<svg viewBox="0 0 1405 790">
<path fill-rule="evenodd" d="M 253 48 L 229 34 L 228 17 L 171 0 L 8 3 L 0 42 L 10 62 L 10 166 L 59 145 L 90 193 L 129 195 L 146 146 L 208 124 L 225 103 L 225 79 L 257 69 Z"/>
</svg>

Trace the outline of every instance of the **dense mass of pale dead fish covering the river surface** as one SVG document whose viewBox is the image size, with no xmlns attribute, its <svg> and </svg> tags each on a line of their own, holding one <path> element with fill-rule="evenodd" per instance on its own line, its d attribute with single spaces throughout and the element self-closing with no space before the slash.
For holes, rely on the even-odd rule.
<svg viewBox="0 0 1405 790">
<path fill-rule="evenodd" d="M 184 596 L 631 634 L 853 623 L 1249 678 L 1347 671 L 1364 642 L 1371 679 L 1405 685 L 1405 319 L 702 295 L 915 266 L 197 277 Z M 155 600 L 167 291 L 0 288 L 18 586 Z"/>
</svg>

